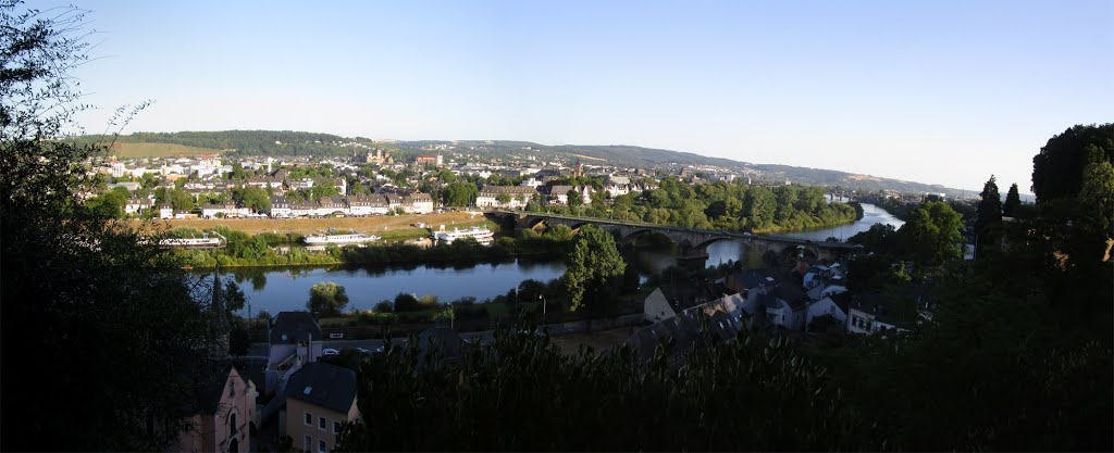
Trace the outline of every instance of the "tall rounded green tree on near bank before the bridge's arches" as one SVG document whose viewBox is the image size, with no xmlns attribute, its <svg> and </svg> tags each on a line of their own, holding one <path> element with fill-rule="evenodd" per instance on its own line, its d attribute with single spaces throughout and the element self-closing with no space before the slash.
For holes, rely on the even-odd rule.
<svg viewBox="0 0 1114 453">
<path fill-rule="evenodd" d="M 614 297 L 605 297 L 606 288 L 625 269 L 626 263 L 615 248 L 610 234 L 594 225 L 580 227 L 561 276 L 561 283 L 568 290 L 569 309 L 587 307 L 598 311 L 615 304 Z"/>
</svg>

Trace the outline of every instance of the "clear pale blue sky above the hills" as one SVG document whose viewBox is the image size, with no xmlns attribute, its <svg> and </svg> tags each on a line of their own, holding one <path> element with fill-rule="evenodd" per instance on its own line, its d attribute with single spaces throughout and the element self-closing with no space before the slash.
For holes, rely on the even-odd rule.
<svg viewBox="0 0 1114 453">
<path fill-rule="evenodd" d="M 1048 138 L 1114 121 L 1111 0 L 75 1 L 90 132 L 152 100 L 124 134 L 622 144 L 1030 193 Z"/>
</svg>

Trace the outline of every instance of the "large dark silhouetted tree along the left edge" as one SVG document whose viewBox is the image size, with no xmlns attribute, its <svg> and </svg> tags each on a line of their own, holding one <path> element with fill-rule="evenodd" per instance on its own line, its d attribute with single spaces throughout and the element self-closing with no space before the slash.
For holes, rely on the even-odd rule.
<svg viewBox="0 0 1114 453">
<path fill-rule="evenodd" d="M 0 2 L 2 418 L 21 433 L 0 447 L 165 450 L 215 338 L 199 282 L 74 195 L 107 154 L 60 139 L 79 128 L 84 12 L 21 8 Z"/>
</svg>

